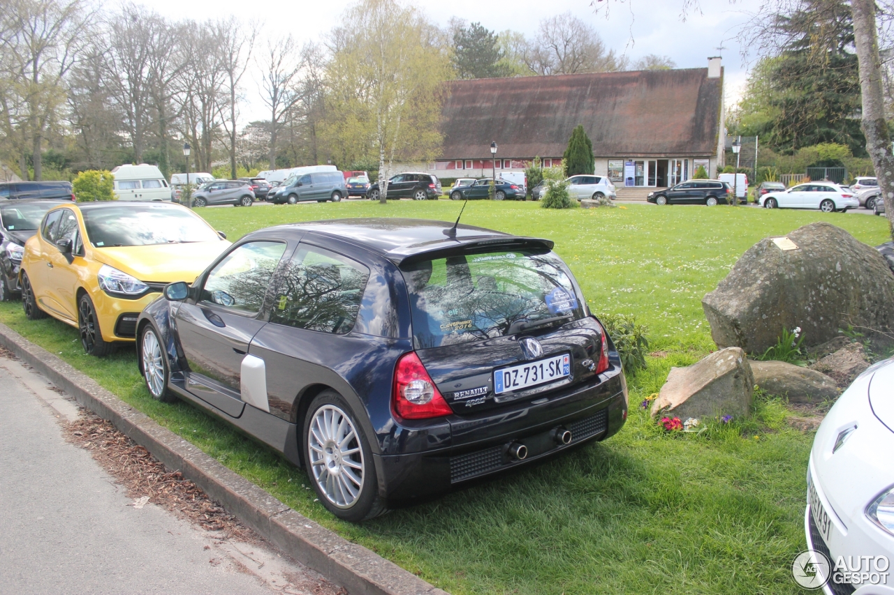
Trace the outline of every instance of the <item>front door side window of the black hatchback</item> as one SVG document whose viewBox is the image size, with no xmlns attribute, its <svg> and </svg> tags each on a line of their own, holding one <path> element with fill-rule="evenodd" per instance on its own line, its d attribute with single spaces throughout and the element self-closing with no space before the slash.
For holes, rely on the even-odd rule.
<svg viewBox="0 0 894 595">
<path fill-rule="evenodd" d="M 237 247 L 208 273 L 199 301 L 257 314 L 285 246 L 257 241 Z"/>
</svg>

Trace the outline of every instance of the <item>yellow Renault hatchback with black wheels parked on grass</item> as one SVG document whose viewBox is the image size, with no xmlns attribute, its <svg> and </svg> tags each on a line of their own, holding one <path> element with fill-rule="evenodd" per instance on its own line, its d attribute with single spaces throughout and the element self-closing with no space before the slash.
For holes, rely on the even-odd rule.
<svg viewBox="0 0 894 595">
<path fill-rule="evenodd" d="M 173 281 L 191 283 L 230 242 L 171 203 L 83 203 L 47 211 L 25 243 L 19 283 L 25 314 L 80 331 L 105 356 L 135 340 L 137 316 Z"/>
</svg>

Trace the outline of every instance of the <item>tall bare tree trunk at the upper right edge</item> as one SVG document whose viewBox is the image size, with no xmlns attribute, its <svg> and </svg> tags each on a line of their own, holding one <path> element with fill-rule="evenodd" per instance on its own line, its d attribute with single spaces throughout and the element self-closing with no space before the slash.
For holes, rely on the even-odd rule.
<svg viewBox="0 0 894 595">
<path fill-rule="evenodd" d="M 873 160 L 879 179 L 880 196 L 885 202 L 888 229 L 894 239 L 894 156 L 881 81 L 881 57 L 875 24 L 875 0 L 851 0 L 854 17 L 856 58 L 860 65 L 860 90 L 863 96 L 863 133 L 866 151 Z"/>
</svg>

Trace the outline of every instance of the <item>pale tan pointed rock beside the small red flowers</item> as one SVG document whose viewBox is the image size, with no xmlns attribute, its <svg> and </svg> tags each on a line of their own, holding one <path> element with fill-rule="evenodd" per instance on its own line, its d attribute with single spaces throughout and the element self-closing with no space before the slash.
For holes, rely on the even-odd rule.
<svg viewBox="0 0 894 595">
<path fill-rule="evenodd" d="M 652 403 L 652 415 L 702 419 L 751 412 L 755 378 L 745 352 L 739 348 L 715 351 L 696 364 L 671 368 L 668 380 Z"/>
</svg>

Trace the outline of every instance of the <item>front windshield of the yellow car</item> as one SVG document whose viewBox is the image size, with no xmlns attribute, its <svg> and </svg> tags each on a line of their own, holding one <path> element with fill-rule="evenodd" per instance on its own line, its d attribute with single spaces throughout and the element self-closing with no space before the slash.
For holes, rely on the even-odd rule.
<svg viewBox="0 0 894 595">
<path fill-rule="evenodd" d="M 220 239 L 197 214 L 168 205 L 104 206 L 81 211 L 96 247 L 152 246 Z"/>
</svg>

